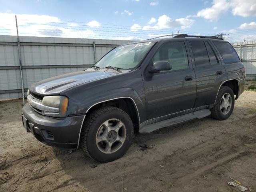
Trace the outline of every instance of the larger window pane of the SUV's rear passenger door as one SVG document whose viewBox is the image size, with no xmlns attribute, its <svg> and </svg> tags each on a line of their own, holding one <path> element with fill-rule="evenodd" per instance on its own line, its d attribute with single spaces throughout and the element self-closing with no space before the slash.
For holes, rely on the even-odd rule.
<svg viewBox="0 0 256 192">
<path fill-rule="evenodd" d="M 194 54 L 196 66 L 210 65 L 209 56 L 204 41 L 190 41 L 190 44 Z"/>
</svg>

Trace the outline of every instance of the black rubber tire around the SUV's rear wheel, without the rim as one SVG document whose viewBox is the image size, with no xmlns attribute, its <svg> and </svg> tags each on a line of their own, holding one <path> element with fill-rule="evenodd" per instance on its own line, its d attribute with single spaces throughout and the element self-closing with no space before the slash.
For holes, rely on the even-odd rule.
<svg viewBox="0 0 256 192">
<path fill-rule="evenodd" d="M 232 105 L 230 107 L 229 112 L 227 114 L 223 114 L 222 111 L 220 110 L 220 104 L 221 104 L 220 102 L 221 102 L 222 96 L 226 93 L 230 94 L 232 99 Z M 234 109 L 234 104 L 235 104 L 235 98 L 234 98 L 233 90 L 227 86 L 220 87 L 214 107 L 211 109 L 212 118 L 218 119 L 218 120 L 226 120 L 232 114 Z"/>
</svg>

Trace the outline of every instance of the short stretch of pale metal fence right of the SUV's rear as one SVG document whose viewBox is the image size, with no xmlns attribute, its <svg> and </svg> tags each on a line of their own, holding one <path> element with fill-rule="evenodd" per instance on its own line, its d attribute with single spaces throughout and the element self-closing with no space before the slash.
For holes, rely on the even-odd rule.
<svg viewBox="0 0 256 192">
<path fill-rule="evenodd" d="M 238 42 L 232 44 L 246 69 L 246 78 L 256 77 L 256 41 Z"/>
</svg>

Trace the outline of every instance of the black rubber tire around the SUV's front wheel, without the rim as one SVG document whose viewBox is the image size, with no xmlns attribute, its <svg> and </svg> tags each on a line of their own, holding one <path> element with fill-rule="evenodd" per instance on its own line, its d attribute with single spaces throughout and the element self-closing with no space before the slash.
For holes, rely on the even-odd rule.
<svg viewBox="0 0 256 192">
<path fill-rule="evenodd" d="M 126 127 L 126 137 L 121 148 L 111 154 L 101 152 L 96 145 L 96 135 L 101 124 L 109 119 L 119 119 Z M 82 128 L 81 146 L 87 156 L 98 162 L 114 161 L 125 154 L 132 144 L 133 123 L 128 114 L 116 107 L 103 107 L 93 111 L 87 118 Z"/>
</svg>

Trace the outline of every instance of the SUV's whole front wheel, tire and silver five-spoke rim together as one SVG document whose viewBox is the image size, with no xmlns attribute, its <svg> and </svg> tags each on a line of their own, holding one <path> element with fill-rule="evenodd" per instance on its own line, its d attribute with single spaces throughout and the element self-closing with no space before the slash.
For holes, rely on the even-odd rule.
<svg viewBox="0 0 256 192">
<path fill-rule="evenodd" d="M 99 162 L 120 158 L 128 150 L 133 136 L 130 116 L 116 107 L 103 107 L 88 116 L 82 129 L 82 148 Z"/>
</svg>

